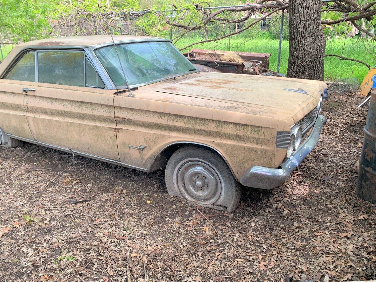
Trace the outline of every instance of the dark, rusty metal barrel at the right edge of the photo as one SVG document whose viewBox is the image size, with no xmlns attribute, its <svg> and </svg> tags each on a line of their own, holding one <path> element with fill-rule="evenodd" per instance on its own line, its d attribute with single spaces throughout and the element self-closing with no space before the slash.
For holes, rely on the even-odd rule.
<svg viewBox="0 0 376 282">
<path fill-rule="evenodd" d="M 371 90 L 367 123 L 364 127 L 356 195 L 365 201 L 376 204 L 376 88 Z"/>
</svg>

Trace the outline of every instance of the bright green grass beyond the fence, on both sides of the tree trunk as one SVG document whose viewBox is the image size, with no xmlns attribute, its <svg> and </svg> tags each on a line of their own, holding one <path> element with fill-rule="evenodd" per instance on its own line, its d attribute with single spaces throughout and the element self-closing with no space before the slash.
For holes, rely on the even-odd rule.
<svg viewBox="0 0 376 282">
<path fill-rule="evenodd" d="M 185 37 L 178 41 L 175 46 L 178 49 L 181 49 L 200 40 L 202 40 L 201 37 Z M 368 52 L 361 40 L 347 38 L 345 47 L 343 46 L 344 39 L 335 38 L 333 40 L 327 40 L 325 53 L 358 59 L 367 62 L 371 67 L 374 66 L 375 62 L 373 61 L 373 56 Z M 232 36 L 219 41 L 198 44 L 190 48 L 271 53 L 269 58 L 269 69 L 276 71 L 278 47 L 279 40 L 270 38 L 269 36 L 260 36 L 253 40 L 248 40 L 247 38 L 238 35 L 238 37 Z M 182 50 L 182 52 L 186 51 L 187 50 Z M 287 62 L 288 41 L 282 40 L 281 61 L 279 67 L 280 73 L 287 72 Z M 333 56 L 324 58 L 324 78 L 326 81 L 353 76 L 361 82 L 367 72 L 368 68 L 358 62 L 341 60 Z"/>
</svg>

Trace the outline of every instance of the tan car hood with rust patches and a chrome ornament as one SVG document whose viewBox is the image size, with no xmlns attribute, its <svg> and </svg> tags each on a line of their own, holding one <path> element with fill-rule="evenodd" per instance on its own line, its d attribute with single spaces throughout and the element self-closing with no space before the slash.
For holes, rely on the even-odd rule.
<svg viewBox="0 0 376 282">
<path fill-rule="evenodd" d="M 260 110 L 273 112 L 280 119 L 292 117 L 297 122 L 317 106 L 321 96 L 320 83 L 306 79 L 201 72 L 148 85 L 146 88 L 248 106 L 250 114 L 259 115 Z"/>
</svg>

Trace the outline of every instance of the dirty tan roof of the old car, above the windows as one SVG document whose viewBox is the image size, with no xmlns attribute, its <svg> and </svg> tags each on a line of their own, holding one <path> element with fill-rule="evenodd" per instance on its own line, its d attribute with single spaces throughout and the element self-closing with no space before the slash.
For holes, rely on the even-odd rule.
<svg viewBox="0 0 376 282">
<path fill-rule="evenodd" d="M 156 37 L 151 36 L 134 36 L 134 35 L 114 35 L 114 41 L 135 41 L 147 40 Z M 87 36 L 72 36 L 72 37 L 57 37 L 46 38 L 41 40 L 33 40 L 18 44 L 17 46 L 75 46 L 86 47 L 91 45 L 110 43 L 112 42 L 111 35 L 87 35 Z"/>
</svg>

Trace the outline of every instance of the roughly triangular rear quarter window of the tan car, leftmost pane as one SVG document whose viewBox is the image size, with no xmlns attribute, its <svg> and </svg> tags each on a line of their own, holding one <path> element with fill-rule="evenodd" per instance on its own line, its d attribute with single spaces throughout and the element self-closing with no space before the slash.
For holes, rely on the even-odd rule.
<svg viewBox="0 0 376 282">
<path fill-rule="evenodd" d="M 4 78 L 35 81 L 35 51 L 24 54 Z"/>
</svg>

